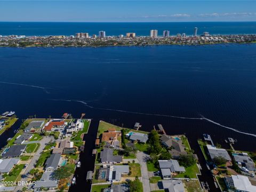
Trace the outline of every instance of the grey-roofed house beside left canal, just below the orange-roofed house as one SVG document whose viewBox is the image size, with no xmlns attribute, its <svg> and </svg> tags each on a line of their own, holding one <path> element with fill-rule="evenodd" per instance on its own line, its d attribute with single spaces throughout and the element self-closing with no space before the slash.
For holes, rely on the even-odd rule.
<svg viewBox="0 0 256 192">
<path fill-rule="evenodd" d="M 120 155 L 113 155 L 113 149 L 103 148 L 100 152 L 101 163 L 122 163 L 123 157 Z"/>
</svg>

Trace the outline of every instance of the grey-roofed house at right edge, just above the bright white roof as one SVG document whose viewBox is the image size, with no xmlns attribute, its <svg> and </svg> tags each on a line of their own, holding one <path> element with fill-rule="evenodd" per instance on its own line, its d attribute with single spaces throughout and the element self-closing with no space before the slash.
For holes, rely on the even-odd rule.
<svg viewBox="0 0 256 192">
<path fill-rule="evenodd" d="M 255 164 L 247 153 L 232 154 L 239 167 L 245 167 L 249 171 L 256 171 Z"/>
</svg>

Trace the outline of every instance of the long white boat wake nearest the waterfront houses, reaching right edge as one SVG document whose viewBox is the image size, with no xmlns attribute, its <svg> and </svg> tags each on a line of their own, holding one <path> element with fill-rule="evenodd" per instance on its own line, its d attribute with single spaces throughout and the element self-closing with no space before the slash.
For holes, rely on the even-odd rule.
<svg viewBox="0 0 256 192">
<path fill-rule="evenodd" d="M 221 125 L 220 123 L 214 122 L 214 121 L 212 121 L 211 119 L 206 118 L 206 117 L 204 117 L 204 116 L 202 116 L 202 115 L 201 115 L 201 117 L 180 117 L 180 116 L 173 116 L 173 115 L 150 114 L 150 113 L 141 113 L 141 112 L 135 112 L 135 111 L 126 111 L 126 110 L 118 110 L 118 109 L 109 109 L 109 108 L 93 107 L 93 106 L 88 105 L 85 101 L 81 101 L 81 100 L 66 100 L 66 99 L 51 99 L 51 100 L 54 100 L 54 101 L 79 102 L 79 103 L 82 103 L 84 106 L 89 107 L 89 108 L 93 108 L 93 109 L 117 111 L 117 112 L 122 112 L 122 113 L 129 113 L 129 114 L 151 115 L 151 116 L 171 117 L 171 118 L 179 118 L 179 119 L 204 120 L 204 121 L 207 121 L 207 122 L 209 122 L 209 123 L 212 123 L 212 124 L 215 124 L 215 125 L 224 127 L 224 128 L 226 128 L 226 129 L 229 129 L 229 130 L 232 130 L 232 131 L 235 131 L 235 132 L 237 132 L 237 133 L 242 133 L 242 134 L 250 135 L 250 136 L 256 138 L 256 134 L 253 134 L 253 133 L 246 133 L 246 132 L 243 132 L 243 131 L 236 130 L 236 129 L 232 128 L 232 127 L 228 127 L 228 126 L 225 126 L 225 125 Z"/>
</svg>

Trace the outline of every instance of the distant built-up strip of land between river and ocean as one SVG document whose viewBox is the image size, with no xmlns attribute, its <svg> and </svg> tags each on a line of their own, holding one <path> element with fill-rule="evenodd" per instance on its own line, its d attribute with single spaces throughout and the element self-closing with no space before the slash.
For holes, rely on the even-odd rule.
<svg viewBox="0 0 256 192">
<path fill-rule="evenodd" d="M 147 45 L 206 45 L 219 43 L 256 43 L 256 35 L 209 35 L 167 37 L 149 36 L 0 36 L 1 47 L 98 47 L 98 46 L 147 46 Z"/>
</svg>

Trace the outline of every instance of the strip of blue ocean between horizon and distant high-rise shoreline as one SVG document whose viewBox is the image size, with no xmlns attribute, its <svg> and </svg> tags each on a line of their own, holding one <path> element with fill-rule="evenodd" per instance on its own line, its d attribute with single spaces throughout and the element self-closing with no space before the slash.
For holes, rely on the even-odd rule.
<svg viewBox="0 0 256 192">
<path fill-rule="evenodd" d="M 105 30 L 106 35 L 134 32 L 139 36 L 148 36 L 150 29 L 170 30 L 171 35 L 186 33 L 192 35 L 194 27 L 198 34 L 209 31 L 210 34 L 256 34 L 256 22 L 0 22 L 0 35 L 74 35 L 88 32 L 90 35 Z"/>
</svg>

